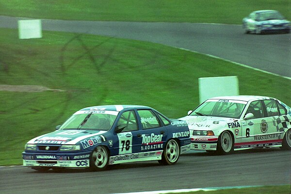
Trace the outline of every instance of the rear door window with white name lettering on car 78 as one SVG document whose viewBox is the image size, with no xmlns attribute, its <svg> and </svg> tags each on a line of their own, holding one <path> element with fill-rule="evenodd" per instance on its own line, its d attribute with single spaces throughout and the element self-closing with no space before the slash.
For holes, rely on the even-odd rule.
<svg viewBox="0 0 291 194">
<path fill-rule="evenodd" d="M 138 110 L 137 112 L 141 118 L 143 129 L 151 129 L 151 128 L 156 128 L 156 127 L 161 126 L 161 124 L 159 123 L 159 120 L 157 119 L 153 111 Z"/>
</svg>

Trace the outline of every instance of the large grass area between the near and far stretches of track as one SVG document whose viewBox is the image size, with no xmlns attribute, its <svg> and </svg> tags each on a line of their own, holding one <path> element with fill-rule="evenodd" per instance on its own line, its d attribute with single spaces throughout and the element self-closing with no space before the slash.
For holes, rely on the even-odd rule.
<svg viewBox="0 0 291 194">
<path fill-rule="evenodd" d="M 83 107 L 139 104 L 184 116 L 199 103 L 200 77 L 235 75 L 240 94 L 291 104 L 291 80 L 161 44 L 48 31 L 19 40 L 17 30 L 5 28 L 0 34 L 0 84 L 65 90 L 0 91 L 0 166 L 20 165 L 29 139 Z"/>
</svg>

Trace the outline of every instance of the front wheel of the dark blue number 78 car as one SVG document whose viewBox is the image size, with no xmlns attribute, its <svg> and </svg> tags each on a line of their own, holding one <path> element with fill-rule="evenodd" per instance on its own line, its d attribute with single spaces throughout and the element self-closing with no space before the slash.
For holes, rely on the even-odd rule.
<svg viewBox="0 0 291 194">
<path fill-rule="evenodd" d="M 90 168 L 94 171 L 105 170 L 108 166 L 109 154 L 104 146 L 97 146 L 91 154 Z"/>
</svg>

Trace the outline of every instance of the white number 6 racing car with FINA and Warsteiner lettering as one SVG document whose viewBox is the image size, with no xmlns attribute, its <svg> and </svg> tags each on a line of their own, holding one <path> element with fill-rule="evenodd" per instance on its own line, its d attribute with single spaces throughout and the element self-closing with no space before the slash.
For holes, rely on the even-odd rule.
<svg viewBox="0 0 291 194">
<path fill-rule="evenodd" d="M 291 108 L 273 97 L 213 97 L 180 119 L 188 123 L 191 150 L 291 150 Z"/>
</svg>

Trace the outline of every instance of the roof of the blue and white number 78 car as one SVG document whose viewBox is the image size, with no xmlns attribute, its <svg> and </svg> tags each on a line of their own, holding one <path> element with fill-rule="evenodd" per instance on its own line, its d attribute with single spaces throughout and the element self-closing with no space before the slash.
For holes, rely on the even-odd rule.
<svg viewBox="0 0 291 194">
<path fill-rule="evenodd" d="M 80 111 L 122 111 L 124 109 L 130 109 L 130 108 L 142 108 L 142 109 L 151 109 L 147 106 L 142 105 L 103 105 L 103 106 L 92 106 L 92 107 L 86 107 L 81 109 Z"/>
</svg>

